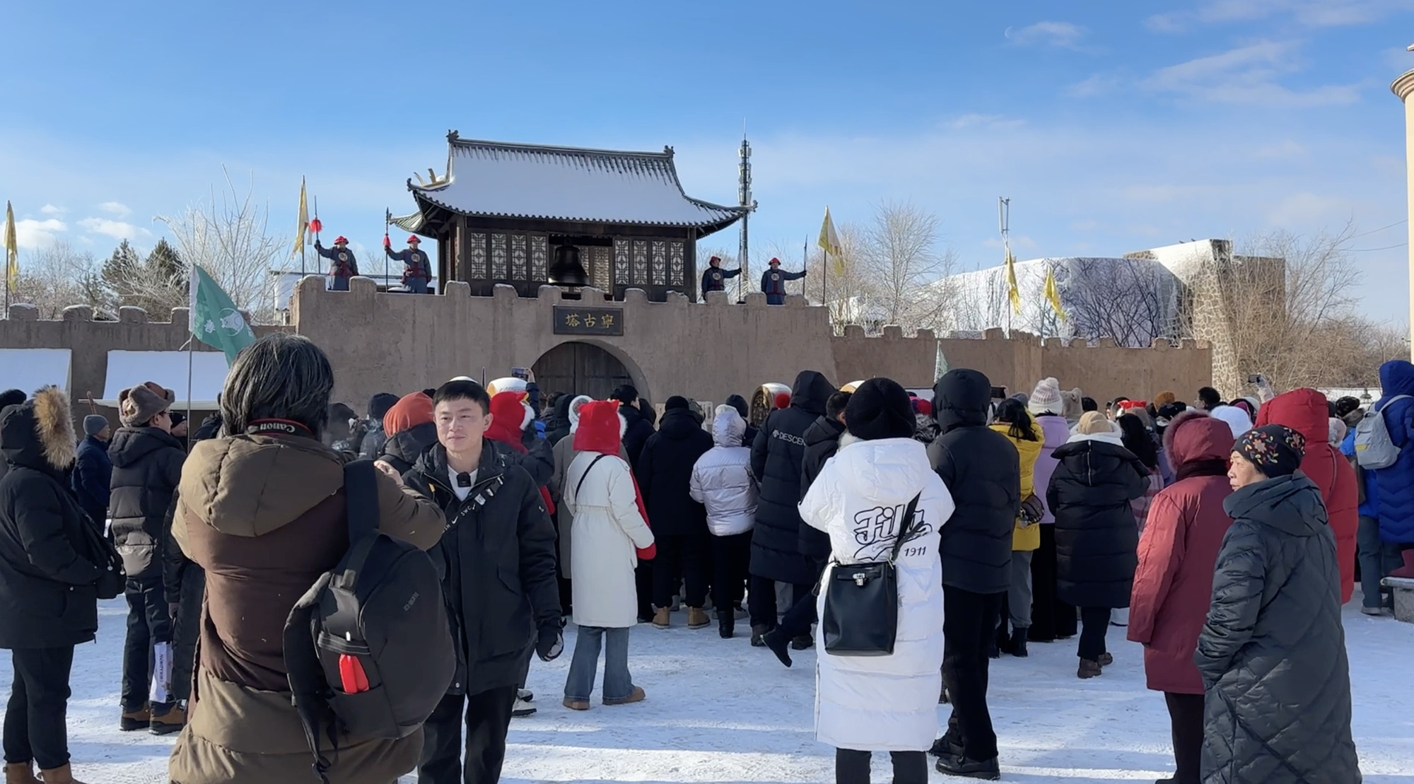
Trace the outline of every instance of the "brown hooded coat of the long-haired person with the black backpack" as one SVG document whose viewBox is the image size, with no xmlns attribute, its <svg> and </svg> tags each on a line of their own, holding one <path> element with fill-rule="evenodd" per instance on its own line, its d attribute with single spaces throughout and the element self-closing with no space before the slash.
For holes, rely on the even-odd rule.
<svg viewBox="0 0 1414 784">
<path fill-rule="evenodd" d="M 171 753 L 173 784 L 317 783 L 290 702 L 281 631 L 294 603 L 348 549 L 344 459 L 317 439 L 235 436 L 192 447 L 173 538 L 206 570 L 188 723 Z M 437 505 L 378 474 L 385 534 L 427 549 Z M 325 749 L 332 784 L 389 784 L 419 760 L 402 740 L 341 737 Z"/>
</svg>

